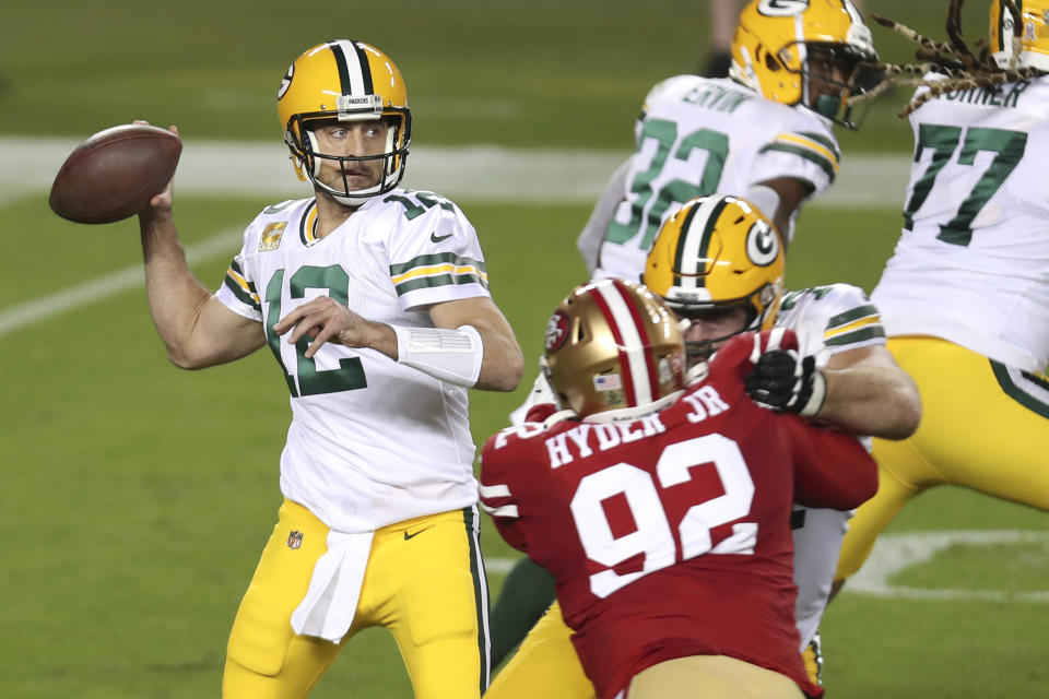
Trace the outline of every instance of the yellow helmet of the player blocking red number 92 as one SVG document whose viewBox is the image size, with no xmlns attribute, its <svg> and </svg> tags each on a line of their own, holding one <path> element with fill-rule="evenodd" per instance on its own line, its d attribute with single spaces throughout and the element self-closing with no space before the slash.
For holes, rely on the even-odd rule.
<svg viewBox="0 0 1049 699">
<path fill-rule="evenodd" d="M 685 343 L 691 356 L 707 356 L 734 334 L 775 324 L 783 266 L 779 234 L 756 206 L 710 194 L 688 200 L 663 222 L 641 281 L 684 319 L 738 306 L 746 311 L 739 331 Z"/>
</svg>

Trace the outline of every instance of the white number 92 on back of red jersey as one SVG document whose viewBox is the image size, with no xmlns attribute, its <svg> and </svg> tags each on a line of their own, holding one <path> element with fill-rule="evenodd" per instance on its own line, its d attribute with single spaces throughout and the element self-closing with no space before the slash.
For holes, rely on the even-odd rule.
<svg viewBox="0 0 1049 699">
<path fill-rule="evenodd" d="M 668 490 L 692 481 L 692 469 L 717 470 L 724 493 L 688 508 L 671 523 L 664 499 Z M 604 502 L 625 500 L 635 530 L 613 533 Z M 736 522 L 732 535 L 712 546 L 710 530 L 746 517 L 754 500 L 754 482 L 735 441 L 722 435 L 705 435 L 668 446 L 656 463 L 655 479 L 647 471 L 620 462 L 579 481 L 571 498 L 571 516 L 582 548 L 590 560 L 606 570 L 590 576 L 590 591 L 606 597 L 638 578 L 707 553 L 753 554 L 756 522 Z M 677 550 L 671 526 L 676 526 Z M 641 570 L 617 573 L 613 568 L 628 558 L 644 556 Z"/>
</svg>

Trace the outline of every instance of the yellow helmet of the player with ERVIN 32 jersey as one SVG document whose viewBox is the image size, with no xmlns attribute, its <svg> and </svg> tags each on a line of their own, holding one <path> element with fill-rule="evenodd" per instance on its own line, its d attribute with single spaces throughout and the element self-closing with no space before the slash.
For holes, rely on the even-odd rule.
<svg viewBox="0 0 1049 699">
<path fill-rule="evenodd" d="M 733 80 L 850 129 L 857 122 L 848 98 L 881 80 L 877 70 L 864 66 L 877 61 L 877 51 L 850 0 L 753 0 L 740 13 L 731 52 Z M 828 68 L 813 73 L 817 62 Z M 822 76 L 829 67 L 840 71 L 842 80 Z M 824 86 L 817 88 L 815 82 Z"/>
</svg>

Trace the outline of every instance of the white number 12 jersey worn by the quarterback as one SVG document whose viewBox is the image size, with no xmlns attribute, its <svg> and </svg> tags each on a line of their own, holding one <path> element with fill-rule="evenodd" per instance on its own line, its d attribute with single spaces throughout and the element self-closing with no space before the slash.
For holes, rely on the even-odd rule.
<svg viewBox="0 0 1049 699">
<path fill-rule="evenodd" d="M 432 328 L 425 307 L 488 296 L 476 232 L 447 199 L 394 189 L 323 238 L 313 199 L 262 211 L 219 299 L 264 323 L 291 392 L 281 490 L 328 526 L 373 531 L 476 501 L 467 389 L 374 350 L 325 344 L 307 359 L 273 324 L 318 296 L 363 318 Z"/>
</svg>

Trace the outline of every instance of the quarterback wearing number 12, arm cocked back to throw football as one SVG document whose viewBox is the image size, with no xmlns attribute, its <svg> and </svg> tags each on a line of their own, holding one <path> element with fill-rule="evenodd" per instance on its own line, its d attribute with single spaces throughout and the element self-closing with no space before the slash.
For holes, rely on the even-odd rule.
<svg viewBox="0 0 1049 699">
<path fill-rule="evenodd" d="M 263 210 L 215 294 L 186 264 L 170 185 L 140 215 L 170 360 L 197 369 L 268 345 L 291 393 L 284 501 L 222 695 L 304 697 L 350 638 L 384 626 L 416 697 L 480 697 L 487 585 L 468 389 L 512 390 L 521 351 L 473 226 L 447 199 L 398 187 L 412 116 L 388 56 L 353 40 L 308 49 L 278 112 L 314 197 Z"/>
</svg>

